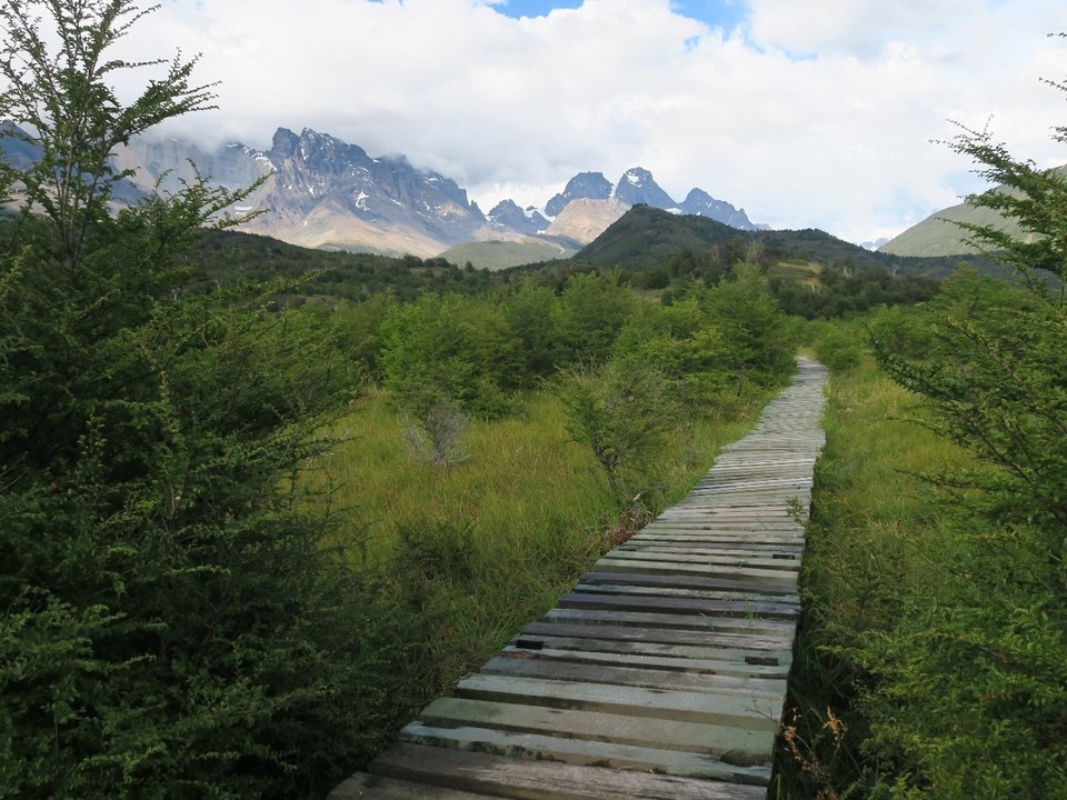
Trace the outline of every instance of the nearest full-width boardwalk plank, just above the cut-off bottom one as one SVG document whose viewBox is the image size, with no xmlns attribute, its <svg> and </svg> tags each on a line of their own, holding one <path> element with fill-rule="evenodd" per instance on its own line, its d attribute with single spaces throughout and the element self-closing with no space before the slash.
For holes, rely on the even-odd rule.
<svg viewBox="0 0 1067 800">
<path fill-rule="evenodd" d="M 377 774 L 513 800 L 766 800 L 766 787 L 397 742 Z"/>
</svg>

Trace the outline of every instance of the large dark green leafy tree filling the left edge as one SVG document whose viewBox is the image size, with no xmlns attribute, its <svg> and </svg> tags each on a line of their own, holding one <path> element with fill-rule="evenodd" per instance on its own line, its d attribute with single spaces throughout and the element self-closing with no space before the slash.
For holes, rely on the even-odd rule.
<svg viewBox="0 0 1067 800">
<path fill-rule="evenodd" d="M 206 294 L 176 268 L 239 194 L 196 181 L 109 213 L 114 148 L 213 100 L 196 59 L 109 58 L 150 11 L 0 8 L 0 117 L 39 147 L 0 170 L 19 201 L 0 223 L 0 784 L 319 796 L 361 746 L 353 666 L 392 658 L 356 649 L 389 613 L 299 489 L 349 376 L 315 320 L 263 310 L 278 287 Z M 123 106 L 108 81 L 139 69 L 162 76 Z"/>
</svg>

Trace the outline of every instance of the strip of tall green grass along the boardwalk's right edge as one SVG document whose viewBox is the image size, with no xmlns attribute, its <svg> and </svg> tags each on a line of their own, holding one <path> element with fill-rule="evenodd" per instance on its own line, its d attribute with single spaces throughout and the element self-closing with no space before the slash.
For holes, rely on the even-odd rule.
<svg viewBox="0 0 1067 800">
<path fill-rule="evenodd" d="M 921 476 L 968 458 L 921 424 L 916 398 L 867 354 L 831 374 L 800 574 L 802 622 L 771 797 L 866 796 L 879 783 L 872 677 L 856 657 L 935 598 L 965 561 L 951 512 Z M 901 769 L 907 766 L 901 764 Z"/>
</svg>

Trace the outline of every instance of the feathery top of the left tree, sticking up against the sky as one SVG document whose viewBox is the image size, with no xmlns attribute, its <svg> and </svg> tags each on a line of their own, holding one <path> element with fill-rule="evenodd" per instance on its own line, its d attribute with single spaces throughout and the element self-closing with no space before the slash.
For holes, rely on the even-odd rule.
<svg viewBox="0 0 1067 800">
<path fill-rule="evenodd" d="M 0 74 L 8 84 L 0 119 L 36 132 L 31 139 L 12 127 L 4 134 L 41 151 L 26 168 L 2 167 L 4 182 L 24 187 L 23 214 L 40 210 L 51 220 L 53 246 L 68 269 L 79 262 L 87 238 L 106 232 L 93 226 L 106 227 L 107 202 L 126 177 L 111 166 L 113 150 L 166 119 L 211 108 L 215 99 L 210 86 L 190 83 L 196 59 L 134 64 L 106 57 L 149 11 L 132 0 L 22 0 L 0 10 L 7 34 Z M 41 14 L 53 31 L 40 30 Z M 52 36 L 61 42 L 54 51 Z M 126 107 L 107 82 L 120 70 L 160 67 L 166 74 Z"/>
</svg>

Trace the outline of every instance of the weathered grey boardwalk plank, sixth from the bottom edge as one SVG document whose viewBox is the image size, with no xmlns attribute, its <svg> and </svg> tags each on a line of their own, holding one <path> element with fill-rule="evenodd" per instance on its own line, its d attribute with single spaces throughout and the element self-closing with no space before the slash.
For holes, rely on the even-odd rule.
<svg viewBox="0 0 1067 800">
<path fill-rule="evenodd" d="M 786 681 L 776 678 L 738 678 L 736 676 L 671 672 L 642 667 L 616 667 L 602 663 L 579 663 L 556 659 L 519 658 L 516 653 L 489 659 L 478 670 L 481 674 L 507 674 L 522 678 L 572 681 L 575 683 L 610 683 L 612 686 L 695 691 L 705 694 L 771 696 L 785 694 Z"/>
</svg>

